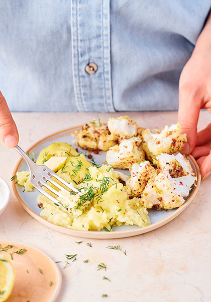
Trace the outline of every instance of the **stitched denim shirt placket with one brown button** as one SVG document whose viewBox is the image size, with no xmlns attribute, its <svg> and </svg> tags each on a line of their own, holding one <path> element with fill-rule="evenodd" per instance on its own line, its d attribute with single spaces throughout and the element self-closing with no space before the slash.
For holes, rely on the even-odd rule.
<svg viewBox="0 0 211 302">
<path fill-rule="evenodd" d="M 72 0 L 72 72 L 79 111 L 113 112 L 110 1 Z"/>
</svg>

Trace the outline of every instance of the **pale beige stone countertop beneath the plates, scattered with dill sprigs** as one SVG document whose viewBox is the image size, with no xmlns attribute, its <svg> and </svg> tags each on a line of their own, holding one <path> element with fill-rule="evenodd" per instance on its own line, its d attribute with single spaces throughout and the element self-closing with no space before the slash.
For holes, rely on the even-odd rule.
<svg viewBox="0 0 211 302">
<path fill-rule="evenodd" d="M 94 117 L 106 122 L 110 116 L 126 114 L 140 126 L 149 128 L 162 128 L 176 123 L 177 119 L 176 112 L 14 113 L 13 116 L 20 133 L 19 145 L 27 150 L 53 132 L 83 124 Z M 209 122 L 210 114 L 202 111 L 198 129 Z M 58 263 L 63 279 L 58 302 L 211 301 L 211 177 L 201 182 L 187 209 L 161 228 L 131 238 L 89 240 L 51 230 L 22 208 L 10 181 L 19 159 L 15 150 L 0 144 L 0 177 L 11 188 L 9 205 L 0 216 L 1 241 L 27 243 L 53 260 L 62 261 Z M 82 244 L 75 243 L 81 240 Z M 91 248 L 87 242 L 91 242 Z M 107 249 L 109 245 L 121 245 L 127 256 L 119 250 Z M 77 254 L 77 259 L 63 269 L 65 254 Z M 83 262 L 86 259 L 88 263 Z M 100 262 L 107 266 L 106 271 L 97 271 Z"/>
</svg>

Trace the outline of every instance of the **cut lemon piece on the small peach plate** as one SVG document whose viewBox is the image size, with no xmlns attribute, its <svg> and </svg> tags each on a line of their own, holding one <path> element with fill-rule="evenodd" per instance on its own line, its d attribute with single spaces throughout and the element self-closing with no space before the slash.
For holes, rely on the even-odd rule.
<svg viewBox="0 0 211 302">
<path fill-rule="evenodd" d="M 0 302 L 7 300 L 13 290 L 15 271 L 12 263 L 0 256 Z"/>
</svg>

